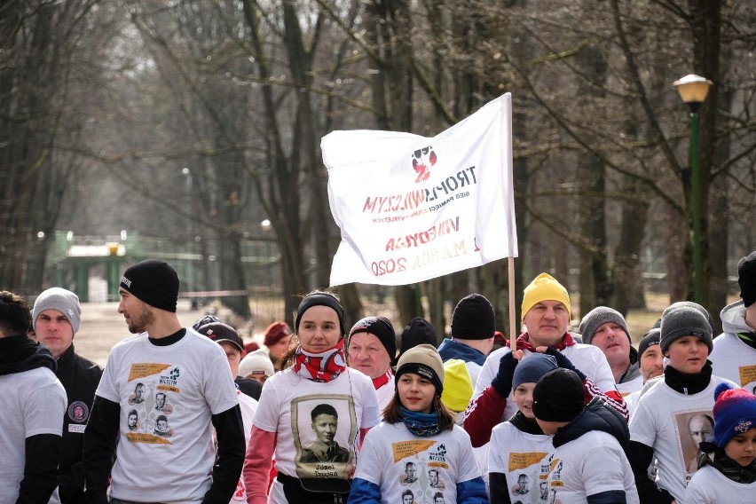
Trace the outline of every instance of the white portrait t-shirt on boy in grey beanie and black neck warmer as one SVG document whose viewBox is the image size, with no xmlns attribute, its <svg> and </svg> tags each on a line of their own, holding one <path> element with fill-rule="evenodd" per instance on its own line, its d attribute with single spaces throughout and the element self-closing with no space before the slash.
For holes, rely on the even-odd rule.
<svg viewBox="0 0 756 504">
<path fill-rule="evenodd" d="M 630 419 L 630 439 L 654 449 L 657 484 L 670 492 L 678 504 L 684 503 L 685 486 L 696 470 L 698 446 L 691 437 L 689 421 L 694 416 L 699 421 L 705 420 L 702 415 L 713 418 L 714 389 L 720 382 L 727 380 L 712 376 L 705 390 L 686 396 L 664 380 L 655 381 L 638 399 Z M 713 432 L 713 426 L 707 429 Z"/>
</svg>

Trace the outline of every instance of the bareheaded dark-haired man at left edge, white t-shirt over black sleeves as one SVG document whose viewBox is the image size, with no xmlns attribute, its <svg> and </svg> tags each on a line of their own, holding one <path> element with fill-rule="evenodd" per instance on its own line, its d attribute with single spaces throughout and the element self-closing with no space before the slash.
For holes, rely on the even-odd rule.
<svg viewBox="0 0 756 504">
<path fill-rule="evenodd" d="M 58 486 L 66 390 L 50 352 L 28 338 L 30 325 L 27 302 L 0 292 L 0 502 L 47 502 Z"/>
</svg>

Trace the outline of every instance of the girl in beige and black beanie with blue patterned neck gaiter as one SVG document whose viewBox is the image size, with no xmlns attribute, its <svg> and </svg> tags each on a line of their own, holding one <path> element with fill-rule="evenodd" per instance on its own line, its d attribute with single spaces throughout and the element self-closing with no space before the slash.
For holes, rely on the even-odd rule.
<svg viewBox="0 0 756 504">
<path fill-rule="evenodd" d="M 441 402 L 444 365 L 435 347 L 407 350 L 383 421 L 367 434 L 352 504 L 484 504 L 485 484 L 467 432 Z"/>
</svg>

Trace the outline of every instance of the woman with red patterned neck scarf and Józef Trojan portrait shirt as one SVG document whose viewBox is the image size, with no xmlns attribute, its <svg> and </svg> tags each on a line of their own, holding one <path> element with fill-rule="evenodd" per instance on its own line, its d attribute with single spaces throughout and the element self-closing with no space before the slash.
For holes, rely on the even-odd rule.
<svg viewBox="0 0 756 504">
<path fill-rule="evenodd" d="M 305 295 L 298 344 L 264 385 L 243 477 L 249 504 L 346 500 L 358 446 L 379 421 L 373 383 L 344 358 L 343 307 L 329 292 Z M 275 459 L 278 475 L 270 492 Z"/>
</svg>

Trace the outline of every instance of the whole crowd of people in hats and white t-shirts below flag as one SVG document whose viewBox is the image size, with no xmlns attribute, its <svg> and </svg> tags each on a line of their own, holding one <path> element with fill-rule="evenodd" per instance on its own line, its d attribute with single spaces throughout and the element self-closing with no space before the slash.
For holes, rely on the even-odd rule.
<svg viewBox="0 0 756 504">
<path fill-rule="evenodd" d="M 608 306 L 573 332 L 541 273 L 515 348 L 480 294 L 439 342 L 420 318 L 348 326 L 325 290 L 257 348 L 212 316 L 183 327 L 177 273 L 146 260 L 104 369 L 75 352 L 75 293 L 3 291 L 0 504 L 752 504 L 756 252 L 737 273 L 721 335 L 691 302 L 637 348 Z"/>
</svg>

